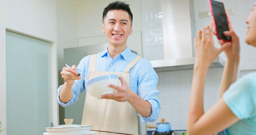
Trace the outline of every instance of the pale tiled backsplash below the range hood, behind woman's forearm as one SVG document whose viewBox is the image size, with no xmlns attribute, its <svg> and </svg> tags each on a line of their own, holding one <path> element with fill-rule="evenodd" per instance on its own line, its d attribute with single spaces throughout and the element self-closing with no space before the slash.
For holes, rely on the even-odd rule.
<svg viewBox="0 0 256 135">
<path fill-rule="evenodd" d="M 212 68 L 208 71 L 204 92 L 205 110 L 208 110 L 218 100 L 222 72 L 223 68 Z M 193 70 L 158 73 L 157 89 L 160 91 L 161 111 L 155 122 L 148 122 L 147 124 L 156 125 L 164 118 L 165 122 L 170 123 L 172 129 L 187 129 L 187 112 L 192 76 Z"/>
</svg>

